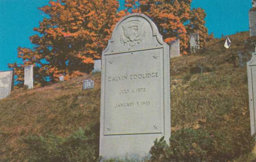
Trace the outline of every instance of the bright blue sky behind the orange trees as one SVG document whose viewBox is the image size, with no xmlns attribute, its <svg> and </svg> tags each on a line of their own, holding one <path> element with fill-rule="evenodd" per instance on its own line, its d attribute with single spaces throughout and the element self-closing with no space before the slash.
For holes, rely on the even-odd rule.
<svg viewBox="0 0 256 162">
<path fill-rule="evenodd" d="M 41 15 L 37 7 L 47 5 L 49 0 L 0 0 L 0 70 L 9 70 L 7 63 L 17 58 L 17 48 L 33 47 L 29 36 L 36 34 Z M 124 0 L 120 0 L 123 9 Z M 237 31 L 249 31 L 251 0 L 192 0 L 192 8 L 206 10 L 206 27 L 215 37 L 230 35 Z"/>
</svg>

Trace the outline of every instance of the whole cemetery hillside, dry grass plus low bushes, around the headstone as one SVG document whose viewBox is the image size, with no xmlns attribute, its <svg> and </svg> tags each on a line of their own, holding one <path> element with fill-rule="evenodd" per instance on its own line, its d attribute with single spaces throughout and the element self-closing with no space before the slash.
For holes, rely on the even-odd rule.
<svg viewBox="0 0 256 162">
<path fill-rule="evenodd" d="M 249 32 L 229 38 L 237 56 Z M 246 66 L 234 68 L 224 42 L 216 39 L 195 54 L 171 59 L 171 146 L 158 139 L 152 162 L 256 160 Z M 204 67 L 202 74 L 190 70 L 198 66 Z M 94 89 L 82 90 L 85 79 L 94 80 Z M 97 161 L 100 82 L 100 73 L 89 74 L 17 89 L 0 100 L 0 162 Z"/>
</svg>

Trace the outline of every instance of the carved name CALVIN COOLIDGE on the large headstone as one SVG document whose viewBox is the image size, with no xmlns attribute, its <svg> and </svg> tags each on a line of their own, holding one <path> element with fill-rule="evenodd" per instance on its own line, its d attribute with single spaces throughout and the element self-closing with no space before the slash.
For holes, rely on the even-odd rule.
<svg viewBox="0 0 256 162">
<path fill-rule="evenodd" d="M 123 80 L 133 80 L 133 79 L 145 79 L 145 78 L 156 78 L 159 77 L 158 72 L 142 73 L 142 74 L 132 74 L 126 76 L 114 76 L 108 77 L 108 81 L 123 81 Z"/>
</svg>

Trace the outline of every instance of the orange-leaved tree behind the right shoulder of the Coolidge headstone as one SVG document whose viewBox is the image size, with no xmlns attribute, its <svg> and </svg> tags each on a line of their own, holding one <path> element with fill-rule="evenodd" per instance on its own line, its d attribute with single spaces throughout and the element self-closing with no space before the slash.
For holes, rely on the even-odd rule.
<svg viewBox="0 0 256 162">
<path fill-rule="evenodd" d="M 190 10 L 192 0 L 125 0 L 126 12 L 143 13 L 157 24 L 166 43 L 180 39 L 181 54 L 188 54 L 189 34 L 198 31 L 205 45 L 208 37 L 204 10 Z M 199 12 L 199 13 L 197 13 Z M 202 34 L 202 35 L 201 35 Z"/>
</svg>

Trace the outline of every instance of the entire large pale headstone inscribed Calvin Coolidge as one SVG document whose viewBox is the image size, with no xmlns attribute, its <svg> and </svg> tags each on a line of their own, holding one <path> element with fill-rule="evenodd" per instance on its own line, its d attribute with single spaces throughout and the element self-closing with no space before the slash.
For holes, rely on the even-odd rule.
<svg viewBox="0 0 256 162">
<path fill-rule="evenodd" d="M 148 156 L 153 141 L 169 141 L 169 46 L 144 14 L 129 14 L 102 53 L 99 155 Z"/>
</svg>

